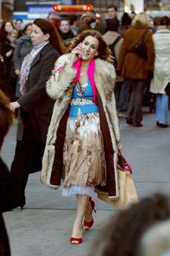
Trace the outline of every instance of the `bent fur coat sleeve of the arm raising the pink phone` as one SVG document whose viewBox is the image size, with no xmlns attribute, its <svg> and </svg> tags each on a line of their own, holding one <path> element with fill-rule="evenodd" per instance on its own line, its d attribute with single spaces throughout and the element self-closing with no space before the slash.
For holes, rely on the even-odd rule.
<svg viewBox="0 0 170 256">
<path fill-rule="evenodd" d="M 61 56 L 56 62 L 53 74 L 50 76 L 46 90 L 50 98 L 58 99 L 71 87 L 71 82 L 76 76 L 76 69 L 69 64 L 69 54 Z"/>
</svg>

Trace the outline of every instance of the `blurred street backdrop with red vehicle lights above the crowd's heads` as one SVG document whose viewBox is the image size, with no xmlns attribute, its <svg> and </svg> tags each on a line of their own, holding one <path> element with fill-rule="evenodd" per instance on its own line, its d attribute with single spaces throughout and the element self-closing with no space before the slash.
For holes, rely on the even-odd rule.
<svg viewBox="0 0 170 256">
<path fill-rule="evenodd" d="M 24 22 L 29 22 L 38 17 L 50 18 L 52 14 L 81 15 L 82 12 L 91 11 L 91 9 L 105 19 L 107 18 L 106 7 L 111 4 L 118 7 L 120 16 L 122 12 L 142 11 L 148 12 L 152 17 L 170 16 L 170 0 L 0 0 L 0 19 L 22 19 Z"/>
</svg>

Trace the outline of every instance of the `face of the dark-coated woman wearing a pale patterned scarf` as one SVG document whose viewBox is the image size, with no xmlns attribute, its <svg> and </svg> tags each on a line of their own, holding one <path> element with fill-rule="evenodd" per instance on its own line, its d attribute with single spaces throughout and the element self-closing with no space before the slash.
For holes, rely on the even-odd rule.
<svg viewBox="0 0 170 256">
<path fill-rule="evenodd" d="M 44 34 L 40 27 L 32 24 L 32 33 L 30 35 L 33 46 L 37 46 L 40 43 L 44 43 L 46 40 L 50 38 L 49 34 Z"/>
</svg>

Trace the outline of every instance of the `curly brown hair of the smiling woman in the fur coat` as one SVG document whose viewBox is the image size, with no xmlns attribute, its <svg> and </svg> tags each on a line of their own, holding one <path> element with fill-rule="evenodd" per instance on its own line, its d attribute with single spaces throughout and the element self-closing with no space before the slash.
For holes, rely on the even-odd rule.
<svg viewBox="0 0 170 256">
<path fill-rule="evenodd" d="M 100 58 L 104 59 L 104 61 L 112 62 L 111 51 L 107 46 L 107 43 L 102 38 L 102 35 L 96 30 L 84 30 L 81 34 L 76 36 L 76 38 L 73 38 L 73 40 L 71 41 L 71 45 L 68 47 L 67 52 L 70 53 L 73 50 L 73 48 L 78 46 L 79 43 L 83 42 L 84 39 L 89 35 L 91 35 L 93 38 L 97 38 L 97 40 L 99 41 L 99 48 L 97 49 L 99 54 L 95 58 Z"/>
</svg>

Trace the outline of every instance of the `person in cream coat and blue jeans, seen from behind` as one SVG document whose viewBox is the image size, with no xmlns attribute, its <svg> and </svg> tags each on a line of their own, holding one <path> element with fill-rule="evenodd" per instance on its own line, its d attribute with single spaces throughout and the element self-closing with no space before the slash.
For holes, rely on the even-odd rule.
<svg viewBox="0 0 170 256">
<path fill-rule="evenodd" d="M 161 17 L 160 25 L 153 35 L 156 59 L 150 91 L 156 94 L 156 124 L 162 128 L 169 127 L 169 95 L 165 93 L 166 85 L 170 82 L 169 24 L 169 17 Z"/>
</svg>

